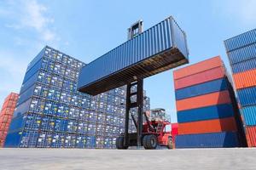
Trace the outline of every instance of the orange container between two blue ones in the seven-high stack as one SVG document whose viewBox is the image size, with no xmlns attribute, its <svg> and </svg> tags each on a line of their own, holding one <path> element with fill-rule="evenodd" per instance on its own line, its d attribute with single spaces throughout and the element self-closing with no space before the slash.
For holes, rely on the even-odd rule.
<svg viewBox="0 0 256 170">
<path fill-rule="evenodd" d="M 230 104 L 230 93 L 228 90 L 205 94 L 189 99 L 181 99 L 176 101 L 177 111 L 185 111 L 210 105 Z"/>
</svg>

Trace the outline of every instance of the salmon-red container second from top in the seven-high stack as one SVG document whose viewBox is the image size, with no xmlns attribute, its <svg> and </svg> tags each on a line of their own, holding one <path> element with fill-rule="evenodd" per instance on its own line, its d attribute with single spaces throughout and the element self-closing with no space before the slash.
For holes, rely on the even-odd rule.
<svg viewBox="0 0 256 170">
<path fill-rule="evenodd" d="M 225 69 L 223 66 L 213 68 L 211 70 L 203 71 L 196 73 L 189 77 L 183 77 L 177 80 L 174 80 L 174 88 L 177 90 L 179 88 L 186 88 L 193 86 L 195 84 L 200 84 L 203 82 L 209 82 L 216 80 L 218 78 L 225 77 Z"/>
</svg>

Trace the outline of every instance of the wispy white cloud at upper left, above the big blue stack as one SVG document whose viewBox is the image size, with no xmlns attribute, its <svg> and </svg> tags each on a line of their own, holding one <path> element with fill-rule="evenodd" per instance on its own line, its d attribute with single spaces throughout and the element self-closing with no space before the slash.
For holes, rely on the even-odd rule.
<svg viewBox="0 0 256 170">
<path fill-rule="evenodd" d="M 60 39 L 52 27 L 55 20 L 48 15 L 49 9 L 36 0 L 8 1 L 0 11 L 9 20 L 4 24 L 8 28 L 35 31 L 38 39 L 46 43 Z"/>
</svg>

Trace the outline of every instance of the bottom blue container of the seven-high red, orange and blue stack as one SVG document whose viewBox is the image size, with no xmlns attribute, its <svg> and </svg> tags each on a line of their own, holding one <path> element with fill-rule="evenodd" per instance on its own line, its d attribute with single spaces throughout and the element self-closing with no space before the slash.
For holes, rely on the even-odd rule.
<svg viewBox="0 0 256 170">
<path fill-rule="evenodd" d="M 238 147 L 236 133 L 204 133 L 177 135 L 176 148 Z"/>
</svg>

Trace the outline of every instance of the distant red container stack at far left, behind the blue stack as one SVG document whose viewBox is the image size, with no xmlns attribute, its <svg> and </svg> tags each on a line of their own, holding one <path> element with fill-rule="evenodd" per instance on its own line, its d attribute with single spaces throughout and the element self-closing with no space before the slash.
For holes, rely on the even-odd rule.
<svg viewBox="0 0 256 170">
<path fill-rule="evenodd" d="M 9 130 L 9 123 L 15 112 L 15 106 L 19 94 L 11 93 L 4 99 L 2 110 L 0 112 L 0 147 L 3 147 L 6 135 Z"/>
</svg>

